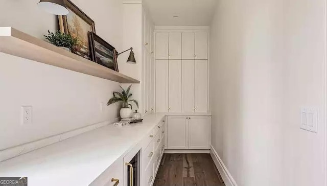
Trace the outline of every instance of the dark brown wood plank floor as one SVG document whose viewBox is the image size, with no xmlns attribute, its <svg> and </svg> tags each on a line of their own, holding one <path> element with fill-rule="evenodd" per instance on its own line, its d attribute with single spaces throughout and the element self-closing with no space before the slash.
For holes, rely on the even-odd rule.
<svg viewBox="0 0 327 186">
<path fill-rule="evenodd" d="M 210 154 L 164 154 L 154 186 L 224 186 Z"/>
</svg>

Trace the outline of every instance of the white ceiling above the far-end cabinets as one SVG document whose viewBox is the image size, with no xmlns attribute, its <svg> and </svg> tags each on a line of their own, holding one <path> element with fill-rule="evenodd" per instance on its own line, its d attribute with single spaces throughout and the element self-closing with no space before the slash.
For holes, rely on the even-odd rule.
<svg viewBox="0 0 327 186">
<path fill-rule="evenodd" d="M 211 25 L 217 0 L 144 0 L 155 25 Z M 173 17 L 178 16 L 178 17 Z"/>
</svg>

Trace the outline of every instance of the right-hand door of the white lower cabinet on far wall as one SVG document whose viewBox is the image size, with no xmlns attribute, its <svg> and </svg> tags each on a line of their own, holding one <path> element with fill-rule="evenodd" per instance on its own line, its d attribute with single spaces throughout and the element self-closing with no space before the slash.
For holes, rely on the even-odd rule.
<svg viewBox="0 0 327 186">
<path fill-rule="evenodd" d="M 189 117 L 189 149 L 209 149 L 209 117 Z"/>
</svg>

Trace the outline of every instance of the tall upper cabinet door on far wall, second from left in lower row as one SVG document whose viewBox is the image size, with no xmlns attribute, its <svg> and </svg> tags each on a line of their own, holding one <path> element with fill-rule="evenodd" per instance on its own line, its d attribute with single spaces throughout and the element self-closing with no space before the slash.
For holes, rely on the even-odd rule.
<svg viewBox="0 0 327 186">
<path fill-rule="evenodd" d="M 169 112 L 181 111 L 181 60 L 169 60 Z"/>
</svg>

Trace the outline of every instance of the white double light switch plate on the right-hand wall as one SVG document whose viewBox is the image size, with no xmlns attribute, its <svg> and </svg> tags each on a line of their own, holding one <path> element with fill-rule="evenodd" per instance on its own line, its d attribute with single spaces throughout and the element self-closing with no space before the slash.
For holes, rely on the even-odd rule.
<svg viewBox="0 0 327 186">
<path fill-rule="evenodd" d="M 300 117 L 301 129 L 318 133 L 318 108 L 303 107 L 301 108 Z"/>
</svg>

